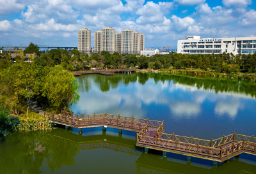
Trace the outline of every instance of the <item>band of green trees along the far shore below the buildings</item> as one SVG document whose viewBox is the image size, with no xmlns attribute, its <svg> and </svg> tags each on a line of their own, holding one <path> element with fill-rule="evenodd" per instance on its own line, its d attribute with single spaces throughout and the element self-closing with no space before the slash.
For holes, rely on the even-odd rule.
<svg viewBox="0 0 256 174">
<path fill-rule="evenodd" d="M 34 57 L 40 57 L 40 61 L 49 66 L 60 65 L 70 71 L 86 70 L 89 68 L 130 68 L 138 67 L 140 69 L 204 69 L 221 73 L 256 73 L 256 53 L 255 54 L 207 54 L 207 55 L 184 55 L 168 54 L 153 55 L 146 57 L 144 55 L 125 55 L 109 54 L 102 51 L 100 54 L 84 54 L 74 49 L 71 52 L 61 49 L 53 49 L 49 54 L 40 54 L 38 47 L 31 43 L 24 50 L 23 54 L 17 55 L 20 59 L 22 55 L 34 54 Z M 0 55 L 0 58 L 10 59 L 10 55 Z M 33 56 L 30 56 L 33 57 Z"/>
</svg>

